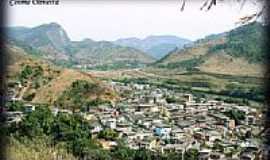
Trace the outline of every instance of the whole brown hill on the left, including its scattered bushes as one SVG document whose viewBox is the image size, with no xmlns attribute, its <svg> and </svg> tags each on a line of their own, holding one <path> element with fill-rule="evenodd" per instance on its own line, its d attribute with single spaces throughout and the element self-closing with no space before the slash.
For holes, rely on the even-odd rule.
<svg viewBox="0 0 270 160">
<path fill-rule="evenodd" d="M 85 94 L 80 95 L 80 98 L 89 102 L 114 102 L 117 100 L 116 93 L 91 74 L 56 67 L 44 59 L 32 57 L 18 46 L 8 45 L 7 48 L 10 57 L 8 63 L 9 85 L 12 85 L 13 82 L 20 82 L 23 86 L 17 90 L 19 99 L 26 102 L 55 105 L 63 96 L 72 99 L 79 94 L 73 93 L 67 97 L 67 92 L 74 84 L 86 84 L 95 86 L 95 89 L 84 91 Z M 70 105 L 62 107 L 70 107 Z"/>
</svg>

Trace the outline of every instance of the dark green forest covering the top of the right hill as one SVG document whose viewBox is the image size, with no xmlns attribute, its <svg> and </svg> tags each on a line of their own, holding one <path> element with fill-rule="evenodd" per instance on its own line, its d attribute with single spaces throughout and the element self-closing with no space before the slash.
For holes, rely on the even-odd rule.
<svg viewBox="0 0 270 160">
<path fill-rule="evenodd" d="M 251 63 L 265 62 L 267 52 L 263 34 L 264 28 L 258 22 L 236 28 L 228 33 L 226 43 L 211 47 L 209 53 L 224 50 L 233 57 L 245 57 Z"/>
</svg>

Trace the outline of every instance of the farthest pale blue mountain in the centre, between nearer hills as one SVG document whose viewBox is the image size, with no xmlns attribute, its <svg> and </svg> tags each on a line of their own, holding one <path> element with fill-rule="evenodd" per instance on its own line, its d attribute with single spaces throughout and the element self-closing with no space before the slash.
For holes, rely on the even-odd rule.
<svg viewBox="0 0 270 160">
<path fill-rule="evenodd" d="M 160 59 L 168 52 L 177 48 L 182 48 L 191 41 L 176 36 L 148 36 L 145 39 L 126 38 L 114 41 L 115 44 L 137 48 L 148 53 L 150 56 Z"/>
</svg>

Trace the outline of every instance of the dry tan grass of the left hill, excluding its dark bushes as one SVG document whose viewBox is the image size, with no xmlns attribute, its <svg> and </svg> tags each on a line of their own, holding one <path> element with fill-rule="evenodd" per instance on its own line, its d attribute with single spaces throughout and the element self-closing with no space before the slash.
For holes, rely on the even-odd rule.
<svg viewBox="0 0 270 160">
<path fill-rule="evenodd" d="M 30 57 L 24 52 L 24 50 L 18 47 L 9 46 L 8 49 L 9 56 L 11 57 L 8 65 L 8 80 L 18 80 L 18 75 L 26 65 L 31 67 L 41 66 L 44 71 L 41 81 L 45 82 L 41 86 L 37 88 L 34 87 L 33 83 L 35 79 L 32 78 L 28 79 L 27 84 L 25 84 L 25 86 L 28 87 L 26 87 L 24 95 L 30 93 L 35 94 L 32 102 L 53 104 L 53 102 L 76 80 L 86 80 L 88 82 L 98 84 L 99 88 L 101 88 L 98 93 L 99 98 L 111 101 L 116 100 L 116 95 L 111 88 L 96 80 L 90 74 L 55 67 L 47 61 Z M 94 97 L 89 98 L 96 98 L 96 93 L 93 96 Z"/>
</svg>

